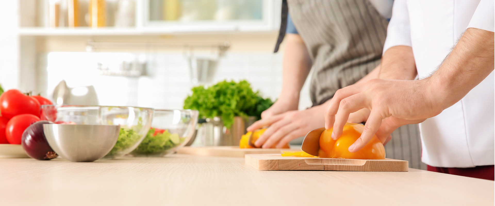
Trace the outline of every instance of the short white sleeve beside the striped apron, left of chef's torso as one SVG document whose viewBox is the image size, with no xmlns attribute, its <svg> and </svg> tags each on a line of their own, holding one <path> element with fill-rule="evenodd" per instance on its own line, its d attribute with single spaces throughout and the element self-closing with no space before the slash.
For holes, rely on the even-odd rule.
<svg viewBox="0 0 495 206">
<path fill-rule="evenodd" d="M 392 7 L 392 18 L 387 28 L 387 39 L 383 46 L 383 53 L 390 47 L 405 45 L 411 46 L 411 29 L 407 0 L 395 0 Z"/>
</svg>

